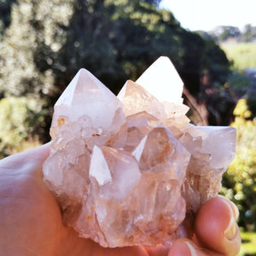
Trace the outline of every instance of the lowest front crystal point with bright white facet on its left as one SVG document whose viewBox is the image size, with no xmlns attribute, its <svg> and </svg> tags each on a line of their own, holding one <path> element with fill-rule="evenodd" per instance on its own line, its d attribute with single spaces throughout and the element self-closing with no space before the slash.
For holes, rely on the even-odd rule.
<svg viewBox="0 0 256 256">
<path fill-rule="evenodd" d="M 90 177 L 95 177 L 106 200 L 125 200 L 140 180 L 141 172 L 131 154 L 116 148 L 94 148 Z"/>
</svg>

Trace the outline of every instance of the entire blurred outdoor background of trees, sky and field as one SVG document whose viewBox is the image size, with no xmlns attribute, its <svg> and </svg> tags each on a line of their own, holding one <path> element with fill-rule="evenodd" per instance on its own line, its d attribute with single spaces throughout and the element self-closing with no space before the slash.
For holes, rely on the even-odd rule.
<svg viewBox="0 0 256 256">
<path fill-rule="evenodd" d="M 0 0 L 0 158 L 49 141 L 53 106 L 79 68 L 116 94 L 167 55 L 191 121 L 237 129 L 221 193 L 240 210 L 240 255 L 256 255 L 255 8 L 253 0 Z"/>
</svg>

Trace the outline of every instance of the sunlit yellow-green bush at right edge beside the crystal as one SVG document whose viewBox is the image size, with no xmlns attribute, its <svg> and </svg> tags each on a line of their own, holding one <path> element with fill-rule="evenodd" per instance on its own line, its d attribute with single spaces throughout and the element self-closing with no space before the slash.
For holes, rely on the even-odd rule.
<svg viewBox="0 0 256 256">
<path fill-rule="evenodd" d="M 256 118 L 249 119 L 252 113 L 245 99 L 237 103 L 234 114 L 236 158 L 224 175 L 223 193 L 236 203 L 239 224 L 247 230 L 256 230 Z"/>
</svg>

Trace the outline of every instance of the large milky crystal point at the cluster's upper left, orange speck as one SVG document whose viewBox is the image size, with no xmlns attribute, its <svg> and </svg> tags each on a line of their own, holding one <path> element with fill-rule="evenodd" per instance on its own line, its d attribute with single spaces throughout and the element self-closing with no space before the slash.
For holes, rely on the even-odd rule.
<svg viewBox="0 0 256 256">
<path fill-rule="evenodd" d="M 122 103 L 89 71 L 80 69 L 55 103 L 50 128 L 53 148 L 82 137 L 92 149 L 106 143 L 124 124 Z"/>
</svg>

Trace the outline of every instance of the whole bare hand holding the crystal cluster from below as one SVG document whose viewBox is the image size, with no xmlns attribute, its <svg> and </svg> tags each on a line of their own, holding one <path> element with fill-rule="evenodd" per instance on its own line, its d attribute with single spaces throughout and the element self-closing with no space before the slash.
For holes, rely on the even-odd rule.
<svg viewBox="0 0 256 256">
<path fill-rule="evenodd" d="M 49 147 L 48 143 L 0 161 L 1 255 L 233 256 L 239 252 L 238 211 L 221 196 L 201 207 L 193 241 L 178 239 L 171 248 L 103 248 L 79 238 L 62 224 L 60 207 L 43 182 L 42 164 Z"/>
</svg>

